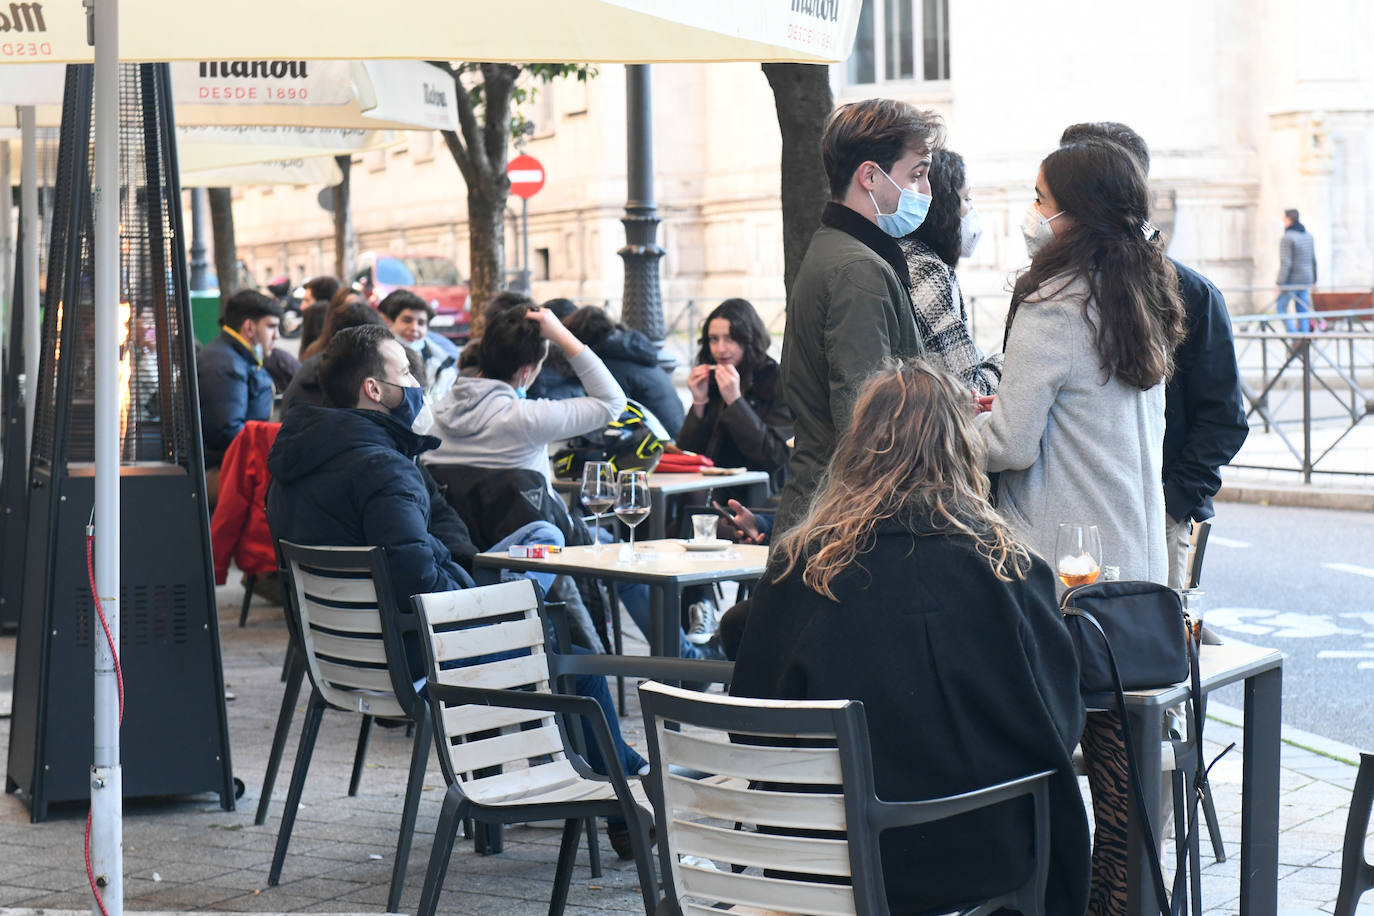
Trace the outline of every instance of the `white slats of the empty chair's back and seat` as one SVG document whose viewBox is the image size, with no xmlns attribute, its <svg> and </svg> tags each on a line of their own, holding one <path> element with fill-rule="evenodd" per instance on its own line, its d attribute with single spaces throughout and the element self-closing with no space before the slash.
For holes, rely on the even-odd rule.
<svg viewBox="0 0 1374 916">
<path fill-rule="evenodd" d="M 477 689 L 550 692 L 541 600 L 534 584 L 416 595 L 430 678 Z M 495 805 L 581 779 L 552 713 L 480 703 L 436 705 L 440 765 L 451 786 Z"/>
</svg>

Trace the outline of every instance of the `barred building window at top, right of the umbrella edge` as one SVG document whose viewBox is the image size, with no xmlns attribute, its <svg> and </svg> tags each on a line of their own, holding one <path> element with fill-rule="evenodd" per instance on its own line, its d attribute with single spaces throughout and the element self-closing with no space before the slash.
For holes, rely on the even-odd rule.
<svg viewBox="0 0 1374 916">
<path fill-rule="evenodd" d="M 949 78 L 949 0 L 864 0 L 849 85 Z"/>
</svg>

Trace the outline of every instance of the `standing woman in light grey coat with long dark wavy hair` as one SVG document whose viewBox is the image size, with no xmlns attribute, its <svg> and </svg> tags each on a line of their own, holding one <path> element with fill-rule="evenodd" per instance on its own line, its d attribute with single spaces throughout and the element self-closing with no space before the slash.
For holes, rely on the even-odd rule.
<svg viewBox="0 0 1374 916">
<path fill-rule="evenodd" d="M 1069 143 L 1040 165 L 1022 232 L 1006 365 L 978 416 L 998 508 L 1032 551 L 1054 556 L 1062 523 L 1096 525 L 1101 563 L 1168 582 L 1164 385 L 1184 317 L 1178 275 L 1146 232 L 1139 162 L 1105 140 Z M 1121 651 L 1121 647 L 1118 647 Z M 1125 744 L 1114 713 L 1088 717 L 1092 916 L 1125 912 Z"/>
</svg>

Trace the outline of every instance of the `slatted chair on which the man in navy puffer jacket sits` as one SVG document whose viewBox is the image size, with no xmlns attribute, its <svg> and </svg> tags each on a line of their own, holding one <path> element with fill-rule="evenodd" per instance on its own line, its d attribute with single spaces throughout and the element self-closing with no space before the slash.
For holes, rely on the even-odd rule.
<svg viewBox="0 0 1374 916">
<path fill-rule="evenodd" d="M 357 790 L 371 721 L 404 718 L 415 725 L 415 744 L 386 902 L 387 912 L 397 912 L 431 743 L 429 705 L 415 691 L 405 662 L 403 634 L 416 630 L 415 615 L 394 607 L 386 555 L 381 548 L 301 547 L 290 541 L 279 541 L 278 547 L 284 569 L 283 584 L 290 593 L 286 610 L 291 617 L 293 640 L 312 689 L 268 884 L 275 887 L 282 876 L 324 710 L 363 717 L 349 794 Z M 289 714 L 283 709 L 283 715 Z"/>
</svg>

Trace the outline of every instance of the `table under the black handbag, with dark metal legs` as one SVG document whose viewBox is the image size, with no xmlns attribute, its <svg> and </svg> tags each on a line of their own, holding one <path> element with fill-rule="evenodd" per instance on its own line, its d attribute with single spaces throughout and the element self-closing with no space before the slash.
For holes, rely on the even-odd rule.
<svg viewBox="0 0 1374 916">
<path fill-rule="evenodd" d="M 1241 916 L 1274 916 L 1278 909 L 1279 868 L 1279 726 L 1283 654 L 1257 645 L 1204 645 L 1200 672 L 1202 695 L 1245 681 L 1245 753 L 1241 783 Z M 1131 737 L 1143 779 L 1145 810 L 1160 835 L 1161 743 L 1164 710 L 1191 694 L 1189 683 L 1153 691 L 1127 691 Z M 1088 709 L 1114 709 L 1110 695 L 1084 698 Z M 1127 912 L 1158 916 L 1150 860 L 1135 805 L 1128 816 Z"/>
</svg>

